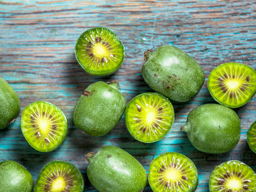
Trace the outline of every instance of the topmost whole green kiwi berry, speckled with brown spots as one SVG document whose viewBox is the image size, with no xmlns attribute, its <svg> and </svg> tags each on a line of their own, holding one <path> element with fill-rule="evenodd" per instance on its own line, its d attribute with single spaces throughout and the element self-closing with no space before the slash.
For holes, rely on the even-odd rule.
<svg viewBox="0 0 256 192">
<path fill-rule="evenodd" d="M 165 97 L 190 101 L 203 86 L 202 67 L 179 48 L 162 45 L 149 52 L 148 57 L 141 70 L 142 76 L 149 87 Z"/>
</svg>

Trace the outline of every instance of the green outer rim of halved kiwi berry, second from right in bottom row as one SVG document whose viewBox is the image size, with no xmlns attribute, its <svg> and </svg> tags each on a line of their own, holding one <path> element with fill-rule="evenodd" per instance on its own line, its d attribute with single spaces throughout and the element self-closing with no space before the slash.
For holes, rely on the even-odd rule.
<svg viewBox="0 0 256 192">
<path fill-rule="evenodd" d="M 186 156 L 183 155 L 183 154 L 176 153 L 176 152 L 167 152 L 167 153 L 164 153 L 164 154 L 162 154 L 162 155 L 156 157 L 156 158 L 150 163 L 148 181 L 149 181 L 149 185 L 150 185 L 150 187 L 151 187 L 151 189 L 152 189 L 153 192 L 161 192 L 161 191 L 158 191 L 157 189 L 155 189 L 155 183 L 152 183 L 152 181 L 151 181 L 151 172 L 154 171 L 154 163 L 155 163 L 156 161 L 158 161 L 158 158 L 161 158 L 161 156 L 163 156 L 163 155 L 170 155 L 170 156 L 172 156 L 172 155 L 174 155 L 174 154 L 177 155 L 177 156 L 179 156 L 179 158 L 181 158 L 181 159 L 186 159 L 187 161 L 189 161 L 190 163 L 192 163 L 192 164 L 194 165 L 194 172 L 195 172 L 195 174 L 197 175 L 197 180 L 195 181 L 194 186 L 193 186 L 189 191 L 186 191 L 186 192 L 194 192 L 194 191 L 197 189 L 197 186 L 198 186 L 198 172 L 197 172 L 197 168 L 196 168 L 194 162 L 192 162 L 192 160 L 191 160 L 190 158 L 186 157 Z M 164 191 L 164 190 L 163 190 L 163 191 Z M 185 191 L 184 191 L 184 192 L 185 192 Z"/>
</svg>

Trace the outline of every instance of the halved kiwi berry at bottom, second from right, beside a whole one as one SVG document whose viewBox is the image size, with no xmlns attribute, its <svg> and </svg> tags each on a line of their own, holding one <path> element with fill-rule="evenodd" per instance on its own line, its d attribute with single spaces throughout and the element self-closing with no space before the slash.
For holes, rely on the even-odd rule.
<svg viewBox="0 0 256 192">
<path fill-rule="evenodd" d="M 197 168 L 185 155 L 164 153 L 151 162 L 148 181 L 154 192 L 193 192 L 198 185 Z"/>
</svg>

